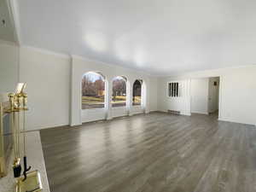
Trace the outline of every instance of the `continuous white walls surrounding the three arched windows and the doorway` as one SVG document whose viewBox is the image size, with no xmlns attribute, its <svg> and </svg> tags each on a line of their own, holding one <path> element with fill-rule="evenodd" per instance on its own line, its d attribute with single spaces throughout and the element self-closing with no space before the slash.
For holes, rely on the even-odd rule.
<svg viewBox="0 0 256 192">
<path fill-rule="evenodd" d="M 99 113 L 80 110 L 80 80 L 82 74 L 88 71 L 102 72 L 108 80 L 124 75 L 130 84 L 135 79 L 143 79 L 147 87 L 144 108 L 130 106 L 124 109 L 108 106 L 107 111 Z M 20 82 L 27 83 L 30 107 L 27 115 L 29 130 L 69 125 L 70 117 L 73 125 L 77 125 L 98 118 L 111 119 L 127 113 L 142 113 L 143 110 L 148 113 L 156 109 L 162 111 L 172 109 L 189 115 L 191 79 L 218 76 L 220 77 L 219 119 L 255 125 L 256 66 L 183 73 L 176 77 L 157 79 L 145 73 L 88 61 L 77 56 L 73 56 L 71 61 L 71 57 L 66 55 L 53 54 L 41 49 L 20 48 Z M 172 80 L 180 82 L 181 97 L 167 96 L 167 82 Z M 109 100 L 112 84 L 108 85 Z M 72 98 L 71 93 L 73 93 Z"/>
</svg>

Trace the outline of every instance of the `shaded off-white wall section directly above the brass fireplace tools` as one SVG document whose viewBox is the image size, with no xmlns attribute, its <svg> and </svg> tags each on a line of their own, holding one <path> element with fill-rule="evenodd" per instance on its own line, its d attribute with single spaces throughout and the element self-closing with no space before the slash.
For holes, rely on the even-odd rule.
<svg viewBox="0 0 256 192">
<path fill-rule="evenodd" d="M 19 49 L 0 40 L 0 93 L 15 91 L 19 74 Z"/>
</svg>

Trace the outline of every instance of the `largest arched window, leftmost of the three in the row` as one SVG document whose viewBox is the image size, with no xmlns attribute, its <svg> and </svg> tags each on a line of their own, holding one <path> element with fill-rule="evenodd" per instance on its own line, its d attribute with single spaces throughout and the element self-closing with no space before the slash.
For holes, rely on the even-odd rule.
<svg viewBox="0 0 256 192">
<path fill-rule="evenodd" d="M 82 109 L 104 108 L 105 79 L 100 73 L 85 73 L 82 79 Z"/>
</svg>

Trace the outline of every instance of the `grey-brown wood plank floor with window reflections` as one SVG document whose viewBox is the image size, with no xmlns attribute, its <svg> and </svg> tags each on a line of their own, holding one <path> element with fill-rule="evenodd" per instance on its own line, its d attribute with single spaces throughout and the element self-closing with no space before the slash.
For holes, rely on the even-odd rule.
<svg viewBox="0 0 256 192">
<path fill-rule="evenodd" d="M 255 192 L 256 129 L 150 113 L 41 131 L 51 192 Z"/>
</svg>

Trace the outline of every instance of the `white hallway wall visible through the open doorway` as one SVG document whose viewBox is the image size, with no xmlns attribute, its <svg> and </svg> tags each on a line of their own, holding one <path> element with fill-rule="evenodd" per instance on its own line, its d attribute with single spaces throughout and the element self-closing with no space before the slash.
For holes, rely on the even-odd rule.
<svg viewBox="0 0 256 192">
<path fill-rule="evenodd" d="M 209 79 L 191 79 L 191 113 L 208 113 Z"/>
</svg>

